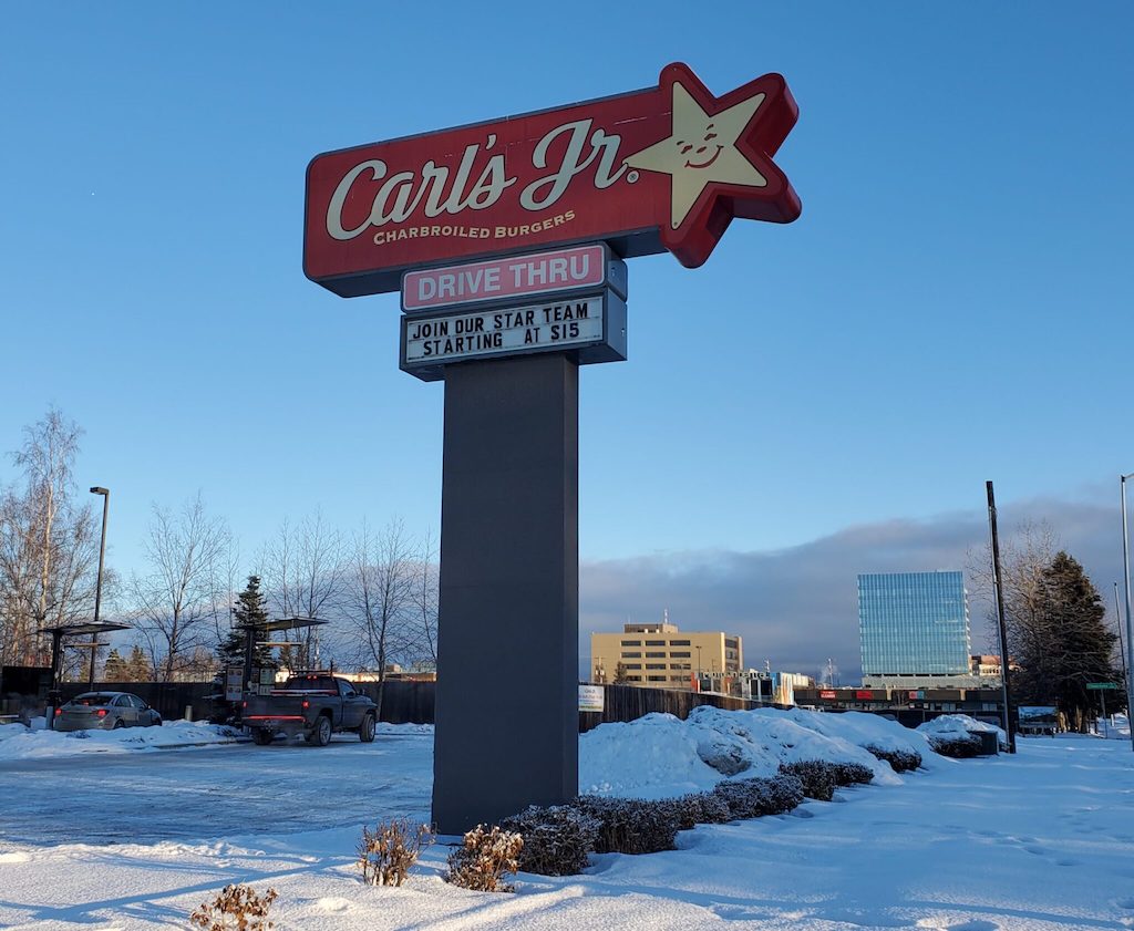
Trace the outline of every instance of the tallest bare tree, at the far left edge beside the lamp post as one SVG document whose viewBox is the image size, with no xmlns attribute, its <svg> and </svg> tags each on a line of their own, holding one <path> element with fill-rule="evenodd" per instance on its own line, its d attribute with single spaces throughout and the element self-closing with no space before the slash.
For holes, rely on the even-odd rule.
<svg viewBox="0 0 1134 931">
<path fill-rule="evenodd" d="M 73 479 L 82 430 L 57 408 L 24 431 L 12 456 L 25 485 L 0 490 L 0 662 L 46 662 L 46 626 L 85 619 L 94 604 L 98 539 Z M 112 592 L 113 574 L 103 575 Z"/>
</svg>

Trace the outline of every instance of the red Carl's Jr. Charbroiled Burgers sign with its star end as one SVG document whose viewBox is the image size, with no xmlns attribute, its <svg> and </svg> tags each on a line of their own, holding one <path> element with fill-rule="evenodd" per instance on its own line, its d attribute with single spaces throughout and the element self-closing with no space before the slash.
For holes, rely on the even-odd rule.
<svg viewBox="0 0 1134 931">
<path fill-rule="evenodd" d="M 350 297 L 407 269 L 600 240 L 694 268 L 734 217 L 799 215 L 772 162 L 797 117 L 779 75 L 717 98 L 669 65 L 657 87 L 316 155 L 304 271 Z"/>
</svg>

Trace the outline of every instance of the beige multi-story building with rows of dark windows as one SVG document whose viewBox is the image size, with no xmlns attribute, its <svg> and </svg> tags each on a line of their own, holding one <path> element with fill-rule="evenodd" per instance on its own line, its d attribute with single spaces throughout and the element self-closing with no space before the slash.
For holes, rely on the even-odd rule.
<svg viewBox="0 0 1134 931">
<path fill-rule="evenodd" d="M 680 630 L 676 624 L 627 624 L 620 634 L 591 634 L 591 680 L 645 688 L 728 692 L 741 669 L 741 637 Z"/>
</svg>

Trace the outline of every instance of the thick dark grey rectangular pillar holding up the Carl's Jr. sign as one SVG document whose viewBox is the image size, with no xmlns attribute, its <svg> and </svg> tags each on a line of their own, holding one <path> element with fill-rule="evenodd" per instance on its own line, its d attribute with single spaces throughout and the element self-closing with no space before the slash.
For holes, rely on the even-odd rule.
<svg viewBox="0 0 1134 931">
<path fill-rule="evenodd" d="M 578 365 L 445 370 L 433 822 L 578 793 Z"/>
</svg>

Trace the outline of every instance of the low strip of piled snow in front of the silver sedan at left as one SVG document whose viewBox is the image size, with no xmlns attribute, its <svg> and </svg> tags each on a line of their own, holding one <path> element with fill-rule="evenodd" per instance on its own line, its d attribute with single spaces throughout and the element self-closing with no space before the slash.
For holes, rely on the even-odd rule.
<svg viewBox="0 0 1134 931">
<path fill-rule="evenodd" d="M 215 746 L 246 739 L 232 727 L 204 721 L 166 721 L 161 727 L 118 730 L 33 730 L 23 725 L 0 727 L 0 762 L 71 756 L 79 753 L 136 753 L 170 747 Z"/>
</svg>

